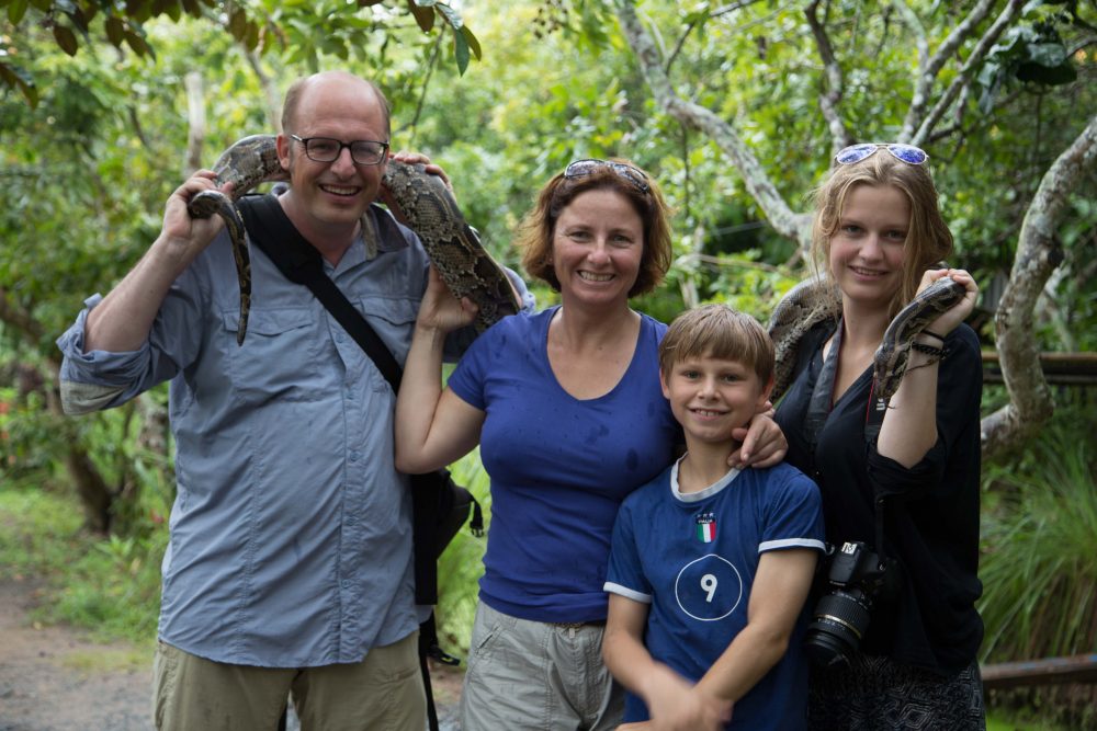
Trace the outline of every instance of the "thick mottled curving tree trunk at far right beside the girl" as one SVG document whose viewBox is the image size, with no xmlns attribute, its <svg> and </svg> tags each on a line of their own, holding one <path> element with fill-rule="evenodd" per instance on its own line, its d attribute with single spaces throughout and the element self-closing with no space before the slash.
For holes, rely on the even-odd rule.
<svg viewBox="0 0 1097 731">
<path fill-rule="evenodd" d="M 1032 336 L 1032 313 L 1044 283 L 1062 261 L 1056 230 L 1068 198 L 1095 167 L 1097 114 L 1044 173 L 1021 224 L 1009 284 L 994 318 L 1002 376 L 1010 403 L 982 422 L 984 459 L 1020 444 L 1054 410 Z"/>
</svg>

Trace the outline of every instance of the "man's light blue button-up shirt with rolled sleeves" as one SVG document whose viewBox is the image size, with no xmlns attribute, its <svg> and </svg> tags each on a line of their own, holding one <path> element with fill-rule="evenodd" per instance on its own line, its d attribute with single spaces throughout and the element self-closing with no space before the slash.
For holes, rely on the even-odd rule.
<svg viewBox="0 0 1097 731">
<path fill-rule="evenodd" d="M 378 253 L 355 242 L 328 275 L 403 363 L 428 259 L 373 209 Z M 304 286 L 251 248 L 247 338 L 227 235 L 174 283 L 148 341 L 83 353 L 58 340 L 69 408 L 117 406 L 165 380 L 178 493 L 163 557 L 160 638 L 211 660 L 303 667 L 361 660 L 416 629 L 410 499 L 393 465 L 388 384 Z"/>
</svg>

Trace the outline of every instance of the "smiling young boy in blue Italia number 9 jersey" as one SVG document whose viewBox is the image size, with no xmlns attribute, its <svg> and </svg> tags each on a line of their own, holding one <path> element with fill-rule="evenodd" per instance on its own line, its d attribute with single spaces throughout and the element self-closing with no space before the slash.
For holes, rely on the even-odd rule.
<svg viewBox="0 0 1097 731">
<path fill-rule="evenodd" d="M 706 305 L 671 323 L 659 369 L 688 452 L 613 528 L 602 653 L 630 692 L 620 728 L 804 729 L 818 490 L 784 464 L 727 468 L 732 431 L 768 401 L 773 344 L 753 318 Z"/>
</svg>

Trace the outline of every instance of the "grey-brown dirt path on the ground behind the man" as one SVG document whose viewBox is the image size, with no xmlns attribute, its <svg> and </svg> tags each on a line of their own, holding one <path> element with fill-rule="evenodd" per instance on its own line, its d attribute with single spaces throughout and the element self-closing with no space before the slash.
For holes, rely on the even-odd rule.
<svg viewBox="0 0 1097 731">
<path fill-rule="evenodd" d="M 41 601 L 35 582 L 0 579 L 0 731 L 151 731 L 151 650 L 36 624 Z M 461 675 L 432 679 L 442 731 L 457 731 Z"/>
</svg>

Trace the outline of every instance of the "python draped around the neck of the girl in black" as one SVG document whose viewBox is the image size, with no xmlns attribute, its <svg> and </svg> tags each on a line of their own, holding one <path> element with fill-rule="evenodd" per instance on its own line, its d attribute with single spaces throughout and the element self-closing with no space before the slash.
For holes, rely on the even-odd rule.
<svg viewBox="0 0 1097 731">
<path fill-rule="evenodd" d="M 891 321 L 872 356 L 873 393 L 890 399 L 898 390 L 915 336 L 964 296 L 962 284 L 942 277 L 912 299 Z M 833 284 L 821 278 L 801 282 L 787 294 L 769 321 L 777 351 L 772 399 L 792 385 L 796 351 L 808 330 L 825 320 L 837 321 L 841 299 Z"/>
</svg>

